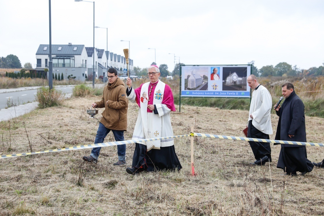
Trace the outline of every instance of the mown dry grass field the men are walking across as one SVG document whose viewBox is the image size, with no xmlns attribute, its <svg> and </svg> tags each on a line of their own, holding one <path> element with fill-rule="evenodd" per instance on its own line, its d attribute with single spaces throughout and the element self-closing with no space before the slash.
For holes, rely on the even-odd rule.
<svg viewBox="0 0 324 216">
<path fill-rule="evenodd" d="M 92 144 L 98 121 L 86 109 L 101 97 L 72 98 L 62 107 L 32 111 L 0 123 L 0 153 L 24 153 Z M 179 110 L 179 105 L 176 106 Z M 100 118 L 101 111 L 96 116 Z M 137 105 L 129 104 L 132 137 Z M 171 114 L 175 135 L 195 132 L 242 136 L 248 111 L 181 106 Z M 272 116 L 275 131 L 278 117 Z M 306 117 L 307 141 L 323 143 L 324 119 Z M 270 139 L 274 138 L 274 134 Z M 114 141 L 110 133 L 105 142 Z M 246 141 L 195 137 L 195 172 L 190 176 L 190 138 L 176 138 L 180 172 L 142 172 L 113 166 L 117 147 L 101 149 L 98 164 L 85 163 L 91 149 L 0 159 L 0 215 L 323 215 L 324 169 L 285 176 L 272 162 L 255 159 Z M 126 150 L 131 166 L 134 145 Z M 324 158 L 323 147 L 307 147 L 311 161 Z"/>
</svg>

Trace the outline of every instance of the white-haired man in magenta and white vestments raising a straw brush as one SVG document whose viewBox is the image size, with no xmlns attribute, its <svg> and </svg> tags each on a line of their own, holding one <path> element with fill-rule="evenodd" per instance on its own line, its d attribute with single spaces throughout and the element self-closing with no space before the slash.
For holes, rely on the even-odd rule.
<svg viewBox="0 0 324 216">
<path fill-rule="evenodd" d="M 175 111 L 170 86 L 159 80 L 160 70 L 156 65 L 148 67 L 150 82 L 133 89 L 132 80 L 127 78 L 127 98 L 137 103 L 138 118 L 133 132 L 134 139 L 150 139 L 173 136 L 170 112 Z M 141 100 L 148 92 L 148 100 Z M 174 140 L 156 140 L 136 143 L 132 167 L 126 172 L 136 174 L 141 171 L 180 170 L 182 168 L 174 149 Z"/>
</svg>

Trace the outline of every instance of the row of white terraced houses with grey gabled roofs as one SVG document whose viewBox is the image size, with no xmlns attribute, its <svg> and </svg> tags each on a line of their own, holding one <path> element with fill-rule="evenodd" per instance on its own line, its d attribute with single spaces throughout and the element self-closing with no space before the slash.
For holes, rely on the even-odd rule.
<svg viewBox="0 0 324 216">
<path fill-rule="evenodd" d="M 93 57 L 95 64 L 93 67 Z M 44 71 L 48 68 L 50 51 L 48 44 L 41 44 L 36 52 L 37 71 Z M 75 76 L 76 80 L 85 81 L 86 76 L 92 77 L 93 70 L 96 72 L 96 79 L 106 81 L 107 70 L 111 67 L 118 71 L 119 75 L 127 75 L 126 58 L 123 55 L 97 49 L 85 45 L 52 45 L 53 74 L 62 74 L 64 79 Z M 93 69 L 94 68 L 94 69 Z M 48 74 L 47 74 L 48 75 Z M 129 75 L 134 74 L 133 60 L 129 59 Z"/>
</svg>

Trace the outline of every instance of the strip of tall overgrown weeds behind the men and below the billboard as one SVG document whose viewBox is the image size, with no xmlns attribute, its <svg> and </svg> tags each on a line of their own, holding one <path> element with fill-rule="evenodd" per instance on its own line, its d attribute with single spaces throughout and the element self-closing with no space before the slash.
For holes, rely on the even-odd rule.
<svg viewBox="0 0 324 216">
<path fill-rule="evenodd" d="M 133 86 L 138 87 L 141 81 L 144 82 L 143 80 L 133 82 Z M 179 79 L 162 81 L 170 85 L 173 91 L 174 103 L 179 104 Z M 324 118 L 324 77 L 313 77 L 307 79 L 302 77 L 261 77 L 258 78 L 258 81 L 269 90 L 273 104 L 277 103 L 279 98 L 282 96 L 281 85 L 287 82 L 293 83 L 297 95 L 304 102 L 305 115 Z M 250 99 L 181 97 L 181 107 L 183 105 L 249 110 Z M 272 113 L 275 113 L 274 110 L 272 110 Z"/>
</svg>

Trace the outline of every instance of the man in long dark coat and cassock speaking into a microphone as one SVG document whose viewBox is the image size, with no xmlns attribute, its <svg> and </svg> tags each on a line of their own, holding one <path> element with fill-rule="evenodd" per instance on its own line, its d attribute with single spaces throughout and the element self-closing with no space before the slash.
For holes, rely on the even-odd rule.
<svg viewBox="0 0 324 216">
<path fill-rule="evenodd" d="M 307 142 L 304 103 L 296 95 L 293 84 L 285 83 L 281 87 L 285 100 L 281 107 L 279 105 L 275 109 L 279 116 L 275 139 Z M 283 169 L 286 175 L 295 176 L 297 171 L 305 175 L 313 167 L 312 162 L 307 159 L 306 146 L 281 144 L 277 168 Z"/>
</svg>

